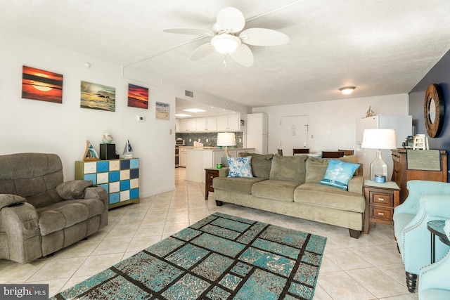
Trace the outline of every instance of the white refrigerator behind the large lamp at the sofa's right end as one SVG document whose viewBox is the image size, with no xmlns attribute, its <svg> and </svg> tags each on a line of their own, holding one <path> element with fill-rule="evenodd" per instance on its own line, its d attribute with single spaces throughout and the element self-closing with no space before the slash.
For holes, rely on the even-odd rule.
<svg viewBox="0 0 450 300">
<path fill-rule="evenodd" d="M 356 120 L 356 152 L 358 162 L 364 164 L 364 179 L 369 179 L 371 174 L 371 162 L 375 158 L 376 149 L 362 149 L 364 129 L 395 129 L 397 136 L 397 148 L 402 148 L 401 143 L 406 141 L 408 136 L 413 135 L 413 117 L 406 115 L 376 115 Z M 386 181 L 391 181 L 392 168 L 392 151 L 381 150 L 383 160 L 387 164 Z"/>
</svg>

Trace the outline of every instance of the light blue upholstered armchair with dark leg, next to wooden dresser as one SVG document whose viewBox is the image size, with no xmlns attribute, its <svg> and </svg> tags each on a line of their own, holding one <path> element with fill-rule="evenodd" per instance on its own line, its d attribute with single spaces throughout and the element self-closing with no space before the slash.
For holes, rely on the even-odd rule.
<svg viewBox="0 0 450 300">
<path fill-rule="evenodd" d="M 420 268 L 431 262 L 427 223 L 450 219 L 450 183 L 408 181 L 406 188 L 408 197 L 394 209 L 394 234 L 405 265 L 406 285 L 414 292 Z M 437 241 L 436 261 L 448 251 L 448 246 Z"/>
</svg>

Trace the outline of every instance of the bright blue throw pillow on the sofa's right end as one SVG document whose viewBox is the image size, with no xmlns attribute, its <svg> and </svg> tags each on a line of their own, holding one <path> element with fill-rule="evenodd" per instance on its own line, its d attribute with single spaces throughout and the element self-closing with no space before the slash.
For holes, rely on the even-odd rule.
<svg viewBox="0 0 450 300">
<path fill-rule="evenodd" d="M 342 162 L 342 160 L 330 159 L 328 168 L 321 184 L 334 186 L 335 188 L 342 188 L 347 190 L 349 181 L 352 179 L 354 172 L 359 168 L 359 164 L 352 164 L 351 162 Z"/>
</svg>

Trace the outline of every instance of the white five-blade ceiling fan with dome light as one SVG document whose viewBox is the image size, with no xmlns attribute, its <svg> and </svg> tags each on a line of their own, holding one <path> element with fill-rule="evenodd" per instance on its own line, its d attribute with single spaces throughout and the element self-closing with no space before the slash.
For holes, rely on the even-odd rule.
<svg viewBox="0 0 450 300">
<path fill-rule="evenodd" d="M 237 8 L 226 7 L 217 13 L 217 21 L 212 30 L 169 28 L 165 29 L 164 32 L 212 37 L 209 43 L 203 44 L 193 51 L 191 60 L 199 60 L 214 51 L 218 51 L 225 58 L 230 56 L 245 67 L 250 67 L 254 62 L 253 53 L 246 44 L 253 46 L 278 46 L 289 41 L 289 37 L 286 34 L 276 30 L 266 28 L 243 30 L 244 26 L 245 18 L 243 13 Z"/>
</svg>

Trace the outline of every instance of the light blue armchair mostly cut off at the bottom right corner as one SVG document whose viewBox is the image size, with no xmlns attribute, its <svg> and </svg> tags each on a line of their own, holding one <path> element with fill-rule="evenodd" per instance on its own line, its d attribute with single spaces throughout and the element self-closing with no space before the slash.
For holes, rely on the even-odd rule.
<svg viewBox="0 0 450 300">
<path fill-rule="evenodd" d="M 446 235 L 450 238 L 450 219 L 446 221 Z M 450 299 L 450 252 L 436 263 L 425 266 L 419 273 L 419 300 Z"/>
</svg>

